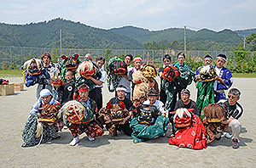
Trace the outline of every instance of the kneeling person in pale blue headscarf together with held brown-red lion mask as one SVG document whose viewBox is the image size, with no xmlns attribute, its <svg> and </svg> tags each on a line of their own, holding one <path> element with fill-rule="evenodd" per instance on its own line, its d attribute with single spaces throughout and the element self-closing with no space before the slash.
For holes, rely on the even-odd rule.
<svg viewBox="0 0 256 168">
<path fill-rule="evenodd" d="M 48 89 L 43 89 L 39 94 L 40 98 L 32 106 L 26 121 L 21 147 L 35 146 L 61 137 L 57 133 L 62 128 L 62 125 L 58 125 L 61 119 L 57 117 L 61 104 L 55 101 Z"/>
</svg>

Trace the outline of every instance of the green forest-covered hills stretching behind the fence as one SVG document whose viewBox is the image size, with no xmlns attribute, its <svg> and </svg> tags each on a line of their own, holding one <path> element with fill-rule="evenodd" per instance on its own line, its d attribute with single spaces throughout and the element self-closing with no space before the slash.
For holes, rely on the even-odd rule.
<svg viewBox="0 0 256 168">
<path fill-rule="evenodd" d="M 0 46 L 109 49 L 183 49 L 184 30 L 169 28 L 148 31 L 134 26 L 110 30 L 99 29 L 71 20 L 54 19 L 26 25 L 0 24 Z M 256 29 L 243 31 L 210 31 L 187 29 L 187 48 L 190 50 L 230 50 Z"/>
</svg>

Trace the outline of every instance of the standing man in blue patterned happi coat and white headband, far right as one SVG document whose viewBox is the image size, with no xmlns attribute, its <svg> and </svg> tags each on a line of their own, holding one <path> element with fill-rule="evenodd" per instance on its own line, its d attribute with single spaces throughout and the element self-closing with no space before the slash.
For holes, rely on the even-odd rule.
<svg viewBox="0 0 256 168">
<path fill-rule="evenodd" d="M 218 54 L 216 66 L 214 66 L 217 74 L 213 85 L 215 102 L 226 98 L 224 90 L 228 90 L 233 84 L 233 76 L 230 70 L 224 67 L 226 61 L 226 55 L 223 53 Z"/>
</svg>

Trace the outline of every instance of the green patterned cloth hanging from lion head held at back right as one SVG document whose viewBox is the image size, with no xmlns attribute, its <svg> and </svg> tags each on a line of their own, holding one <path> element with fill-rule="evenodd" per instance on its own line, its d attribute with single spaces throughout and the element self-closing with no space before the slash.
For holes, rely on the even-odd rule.
<svg viewBox="0 0 256 168">
<path fill-rule="evenodd" d="M 207 106 L 207 104 L 214 104 L 214 91 L 213 91 L 214 81 L 197 81 L 195 87 L 198 89 L 196 104 L 198 106 L 200 119 L 203 119 L 204 114 L 202 110 Z"/>
</svg>

